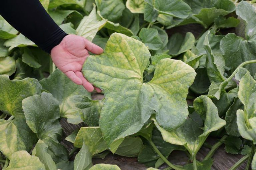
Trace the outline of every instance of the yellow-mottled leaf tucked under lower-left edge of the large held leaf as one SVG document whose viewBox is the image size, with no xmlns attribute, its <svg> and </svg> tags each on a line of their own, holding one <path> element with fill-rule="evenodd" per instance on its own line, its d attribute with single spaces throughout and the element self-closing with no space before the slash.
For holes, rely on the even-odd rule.
<svg viewBox="0 0 256 170">
<path fill-rule="evenodd" d="M 81 148 L 83 141 L 89 147 L 92 155 L 103 152 L 107 149 L 107 145 L 102 137 L 99 127 L 82 127 L 75 139 L 74 146 Z"/>
</svg>

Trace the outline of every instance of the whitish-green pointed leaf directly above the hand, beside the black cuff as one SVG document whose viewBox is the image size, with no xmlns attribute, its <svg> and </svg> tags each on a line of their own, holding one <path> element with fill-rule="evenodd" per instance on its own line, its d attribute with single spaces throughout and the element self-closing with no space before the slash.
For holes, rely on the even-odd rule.
<svg viewBox="0 0 256 170">
<path fill-rule="evenodd" d="M 93 5 L 93 10 L 88 16 L 84 16 L 81 20 L 79 26 L 76 29 L 77 35 L 86 38 L 89 41 L 92 41 L 96 33 L 104 27 L 107 20 L 102 19 L 98 21 L 96 16 L 96 6 Z"/>
</svg>

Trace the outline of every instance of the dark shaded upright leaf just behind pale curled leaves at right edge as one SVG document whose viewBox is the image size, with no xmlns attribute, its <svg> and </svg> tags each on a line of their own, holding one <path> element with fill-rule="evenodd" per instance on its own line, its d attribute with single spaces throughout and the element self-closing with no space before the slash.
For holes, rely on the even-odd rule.
<svg viewBox="0 0 256 170">
<path fill-rule="evenodd" d="M 232 136 L 240 136 L 238 132 L 237 124 L 236 124 L 236 111 L 238 109 L 243 109 L 243 104 L 238 98 L 235 98 L 234 103 L 229 107 L 225 121 L 227 122 L 225 129 L 227 134 Z"/>
</svg>

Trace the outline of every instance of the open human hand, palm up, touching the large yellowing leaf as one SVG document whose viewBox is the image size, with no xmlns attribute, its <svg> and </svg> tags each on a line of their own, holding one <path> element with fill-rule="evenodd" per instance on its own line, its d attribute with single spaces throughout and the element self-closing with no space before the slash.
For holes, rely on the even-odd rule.
<svg viewBox="0 0 256 170">
<path fill-rule="evenodd" d="M 89 56 L 89 51 L 101 54 L 103 49 L 83 37 L 67 35 L 60 44 L 51 50 L 51 57 L 53 63 L 74 83 L 83 85 L 89 92 L 94 89 L 101 92 L 99 88 L 89 83 L 81 72 L 84 61 Z"/>
</svg>

